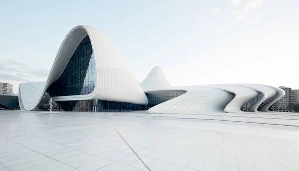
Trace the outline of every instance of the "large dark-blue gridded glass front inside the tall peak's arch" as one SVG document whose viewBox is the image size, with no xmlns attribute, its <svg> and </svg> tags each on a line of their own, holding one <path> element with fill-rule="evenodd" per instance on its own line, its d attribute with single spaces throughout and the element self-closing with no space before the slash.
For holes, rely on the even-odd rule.
<svg viewBox="0 0 299 171">
<path fill-rule="evenodd" d="M 60 78 L 49 86 L 51 97 L 89 94 L 96 83 L 96 67 L 89 36 L 77 47 Z"/>
</svg>

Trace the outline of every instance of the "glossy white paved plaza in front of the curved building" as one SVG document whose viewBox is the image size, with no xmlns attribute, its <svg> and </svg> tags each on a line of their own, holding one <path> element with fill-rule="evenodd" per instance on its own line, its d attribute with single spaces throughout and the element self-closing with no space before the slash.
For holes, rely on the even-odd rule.
<svg viewBox="0 0 299 171">
<path fill-rule="evenodd" d="M 299 115 L 0 111 L 0 171 L 299 171 Z"/>
</svg>

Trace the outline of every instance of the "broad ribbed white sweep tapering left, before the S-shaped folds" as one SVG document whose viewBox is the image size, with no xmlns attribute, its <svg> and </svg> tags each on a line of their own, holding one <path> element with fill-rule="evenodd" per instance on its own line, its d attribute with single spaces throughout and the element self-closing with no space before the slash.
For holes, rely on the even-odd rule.
<svg viewBox="0 0 299 171">
<path fill-rule="evenodd" d="M 223 112 L 225 106 L 233 99 L 233 94 L 202 86 L 173 87 L 187 92 L 153 106 L 150 113 L 177 113 L 177 114 L 207 114 Z"/>
</svg>

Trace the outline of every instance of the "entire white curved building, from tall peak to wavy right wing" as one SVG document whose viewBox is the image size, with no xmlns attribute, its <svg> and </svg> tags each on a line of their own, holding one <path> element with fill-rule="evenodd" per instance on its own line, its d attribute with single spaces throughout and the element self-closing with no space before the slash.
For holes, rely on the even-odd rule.
<svg viewBox="0 0 299 171">
<path fill-rule="evenodd" d="M 100 30 L 80 25 L 62 42 L 45 82 L 19 84 L 22 110 L 47 109 L 46 95 L 65 111 L 201 114 L 267 112 L 285 92 L 257 84 L 171 86 L 154 67 L 139 84 L 121 53 Z"/>
</svg>

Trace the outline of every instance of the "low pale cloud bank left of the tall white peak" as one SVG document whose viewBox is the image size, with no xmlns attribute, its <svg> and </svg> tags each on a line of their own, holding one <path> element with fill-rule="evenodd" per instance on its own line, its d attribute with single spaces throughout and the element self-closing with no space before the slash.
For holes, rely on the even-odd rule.
<svg viewBox="0 0 299 171">
<path fill-rule="evenodd" d="M 0 63 L 0 80 L 16 82 L 34 82 L 44 80 L 49 71 L 42 68 L 32 68 L 23 63 L 4 60 Z"/>
</svg>

